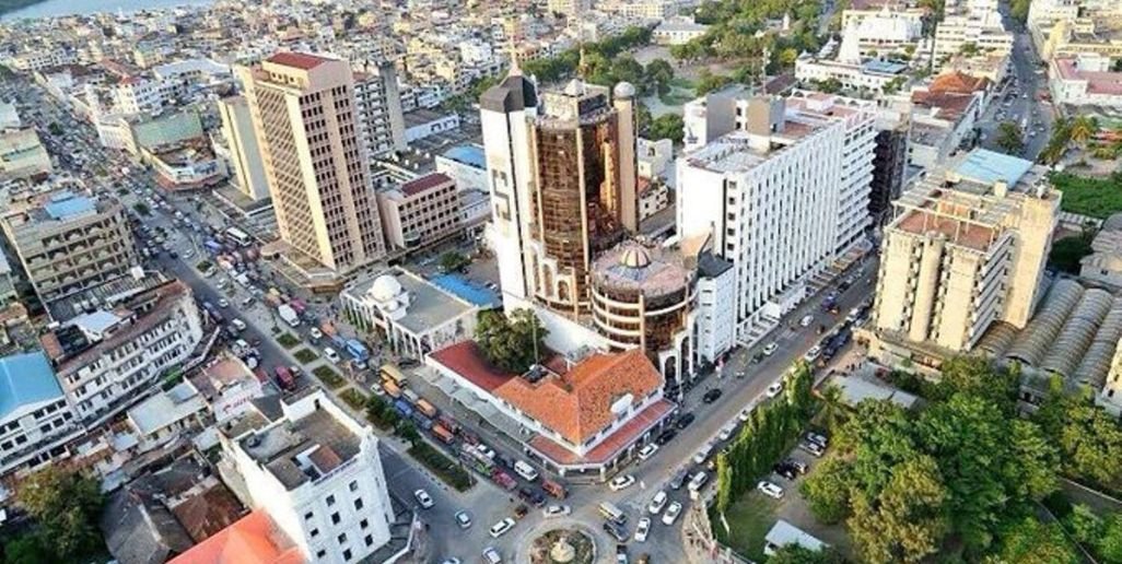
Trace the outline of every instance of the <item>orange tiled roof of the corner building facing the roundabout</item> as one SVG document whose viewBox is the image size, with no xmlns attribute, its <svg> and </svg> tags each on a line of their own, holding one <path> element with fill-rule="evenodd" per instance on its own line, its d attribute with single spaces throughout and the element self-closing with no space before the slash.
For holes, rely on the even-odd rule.
<svg viewBox="0 0 1122 564">
<path fill-rule="evenodd" d="M 609 426 L 611 405 L 629 394 L 641 401 L 662 387 L 662 376 L 638 349 L 614 354 L 594 354 L 563 376 L 550 375 L 537 382 L 512 378 L 494 390 L 530 417 L 573 444 L 582 444 Z"/>
</svg>

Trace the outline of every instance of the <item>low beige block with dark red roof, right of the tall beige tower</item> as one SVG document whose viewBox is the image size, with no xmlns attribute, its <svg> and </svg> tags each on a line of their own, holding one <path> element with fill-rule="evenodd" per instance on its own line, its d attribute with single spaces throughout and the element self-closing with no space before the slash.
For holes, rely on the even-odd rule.
<svg viewBox="0 0 1122 564">
<path fill-rule="evenodd" d="M 460 193 L 441 173 L 379 188 L 378 211 L 386 243 L 395 251 L 423 249 L 463 232 Z"/>
</svg>

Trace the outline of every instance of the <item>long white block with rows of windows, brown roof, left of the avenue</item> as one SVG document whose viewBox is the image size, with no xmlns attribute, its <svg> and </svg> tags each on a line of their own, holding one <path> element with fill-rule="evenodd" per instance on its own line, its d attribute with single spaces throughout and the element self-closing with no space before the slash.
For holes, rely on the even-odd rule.
<svg viewBox="0 0 1122 564">
<path fill-rule="evenodd" d="M 40 338 L 75 417 L 98 425 L 153 391 L 203 340 L 185 284 L 138 294 L 112 311 L 75 317 Z"/>
</svg>

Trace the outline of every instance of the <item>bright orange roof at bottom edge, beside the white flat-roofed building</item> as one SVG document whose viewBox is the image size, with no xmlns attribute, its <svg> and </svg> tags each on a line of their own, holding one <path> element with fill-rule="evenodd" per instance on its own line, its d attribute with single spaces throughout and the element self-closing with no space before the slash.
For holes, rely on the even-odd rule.
<svg viewBox="0 0 1122 564">
<path fill-rule="evenodd" d="M 264 510 L 256 510 L 168 564 L 303 564 L 304 557 Z"/>
</svg>

